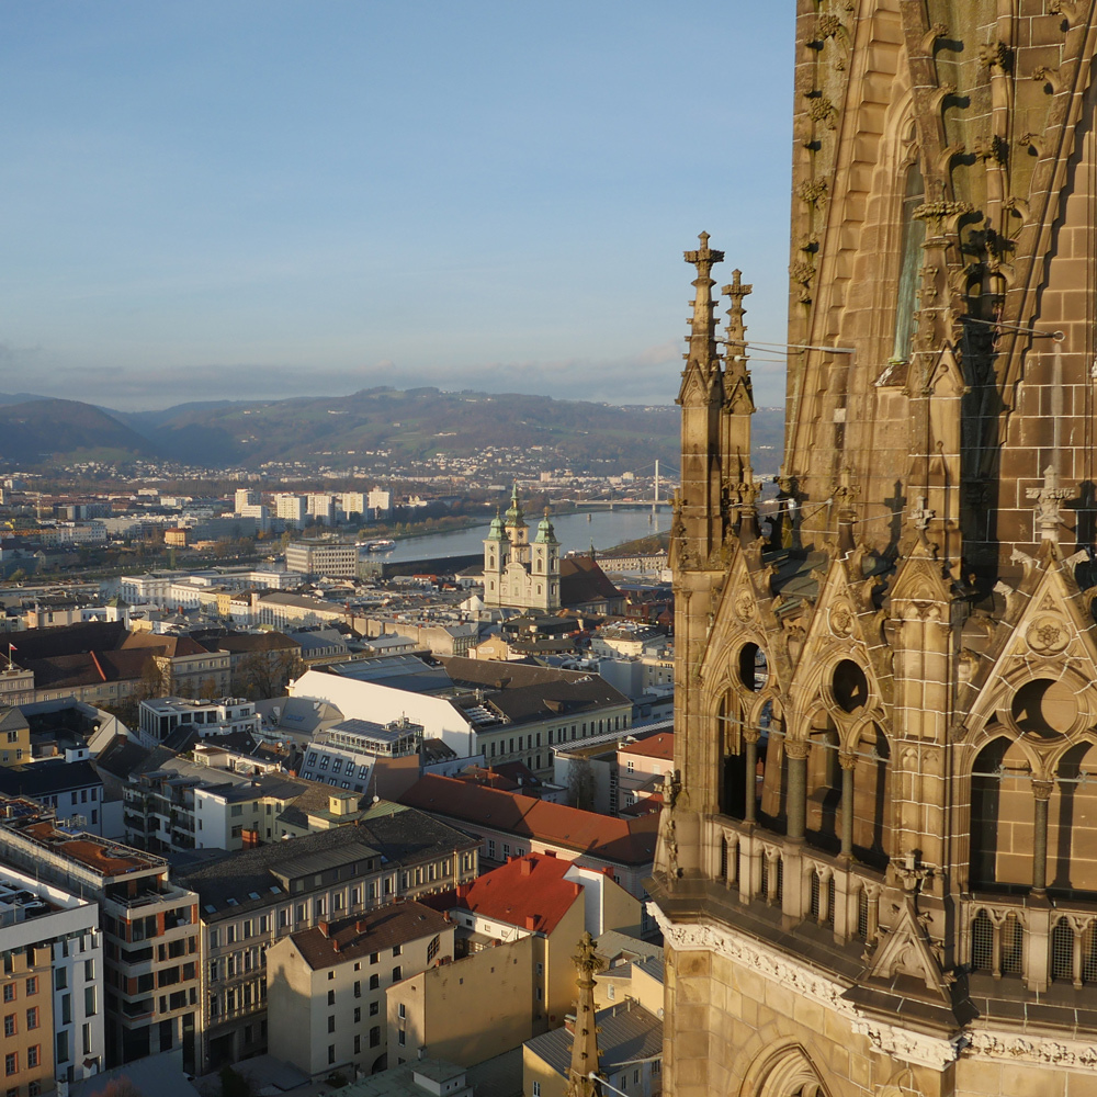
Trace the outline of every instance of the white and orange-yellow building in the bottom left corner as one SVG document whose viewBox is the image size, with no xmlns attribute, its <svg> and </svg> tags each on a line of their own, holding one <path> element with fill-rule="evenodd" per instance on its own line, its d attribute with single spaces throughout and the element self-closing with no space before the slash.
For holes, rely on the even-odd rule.
<svg viewBox="0 0 1097 1097">
<path fill-rule="evenodd" d="M 32 1072 L 25 1078 L 5 1075 L 5 1090 L 19 1087 L 20 1097 L 45 1093 L 48 1087 L 36 1067 L 49 1063 L 50 1082 L 77 1082 L 103 1070 L 98 904 L 0 864 L 0 941 L 9 973 L 4 983 L 13 983 L 11 989 L 0 989 L 4 1045 L 19 1055 L 18 1074 Z M 19 955 L 31 959 L 30 969 L 16 972 Z M 37 1062 L 30 1061 L 34 1047 Z"/>
</svg>

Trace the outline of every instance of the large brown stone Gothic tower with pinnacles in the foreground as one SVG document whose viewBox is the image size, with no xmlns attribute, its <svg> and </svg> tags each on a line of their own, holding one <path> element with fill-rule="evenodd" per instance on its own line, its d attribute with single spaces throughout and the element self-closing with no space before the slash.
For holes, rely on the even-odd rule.
<svg viewBox="0 0 1097 1097">
<path fill-rule="evenodd" d="M 1097 0 L 798 0 L 778 509 L 679 404 L 672 1097 L 1097 1095 Z"/>
</svg>

